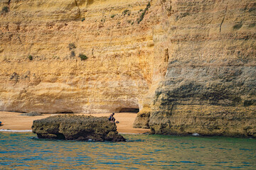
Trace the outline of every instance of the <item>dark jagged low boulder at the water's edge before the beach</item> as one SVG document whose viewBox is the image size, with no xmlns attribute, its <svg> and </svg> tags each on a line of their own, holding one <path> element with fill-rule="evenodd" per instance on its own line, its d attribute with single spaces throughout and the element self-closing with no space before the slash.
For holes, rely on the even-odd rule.
<svg viewBox="0 0 256 170">
<path fill-rule="evenodd" d="M 34 120 L 33 133 L 39 138 L 60 140 L 93 140 L 124 142 L 117 132 L 117 125 L 105 117 L 96 118 L 87 115 L 55 115 Z"/>
</svg>

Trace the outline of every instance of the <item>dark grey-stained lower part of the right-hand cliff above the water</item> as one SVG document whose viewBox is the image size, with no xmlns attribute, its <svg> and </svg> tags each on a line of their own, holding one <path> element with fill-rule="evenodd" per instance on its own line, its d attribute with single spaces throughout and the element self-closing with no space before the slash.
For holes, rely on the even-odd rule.
<svg viewBox="0 0 256 170">
<path fill-rule="evenodd" d="M 153 133 L 256 137 L 255 68 L 169 71 L 156 91 L 149 118 Z"/>
</svg>

